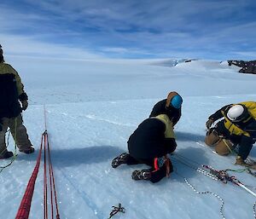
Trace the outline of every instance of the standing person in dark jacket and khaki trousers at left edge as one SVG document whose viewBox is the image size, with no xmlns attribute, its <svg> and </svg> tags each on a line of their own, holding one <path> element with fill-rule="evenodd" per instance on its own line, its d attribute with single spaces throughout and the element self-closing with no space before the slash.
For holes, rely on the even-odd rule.
<svg viewBox="0 0 256 219">
<path fill-rule="evenodd" d="M 20 152 L 34 152 L 21 115 L 22 110 L 28 107 L 27 100 L 20 76 L 12 66 L 5 63 L 0 44 L 0 158 L 14 156 L 6 147 L 5 134 L 8 128 Z"/>
</svg>

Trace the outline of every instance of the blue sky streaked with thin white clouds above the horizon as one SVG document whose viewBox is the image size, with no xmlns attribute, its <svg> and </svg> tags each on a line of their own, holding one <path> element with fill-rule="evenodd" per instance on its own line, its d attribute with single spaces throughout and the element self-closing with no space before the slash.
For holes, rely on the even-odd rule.
<svg viewBox="0 0 256 219">
<path fill-rule="evenodd" d="M 255 0 L 1 0 L 6 55 L 256 57 Z"/>
</svg>

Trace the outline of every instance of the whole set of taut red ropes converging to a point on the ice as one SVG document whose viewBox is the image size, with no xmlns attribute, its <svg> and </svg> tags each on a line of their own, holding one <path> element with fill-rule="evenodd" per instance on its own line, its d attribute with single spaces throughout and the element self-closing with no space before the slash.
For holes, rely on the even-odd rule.
<svg viewBox="0 0 256 219">
<path fill-rule="evenodd" d="M 60 219 L 57 196 L 55 191 L 55 177 L 53 172 L 53 166 L 50 157 L 50 147 L 49 147 L 49 136 L 46 128 L 46 111 L 44 107 L 44 125 L 45 130 L 41 137 L 41 146 L 38 154 L 37 164 L 32 172 L 32 176 L 27 184 L 26 192 L 24 193 L 23 199 L 20 202 L 20 208 L 17 212 L 15 219 L 27 219 L 29 216 L 31 203 L 32 203 L 32 195 L 34 192 L 35 182 L 38 176 L 38 170 L 40 166 L 41 154 L 44 148 L 44 219 L 49 218 L 48 212 L 48 193 L 50 193 L 50 210 L 51 210 L 51 219 L 55 218 Z M 49 173 L 47 172 L 47 167 L 49 169 Z M 49 175 L 49 179 L 48 176 Z M 49 182 L 49 192 L 48 192 L 48 182 Z M 54 210 L 54 202 L 55 202 L 55 210 Z"/>
</svg>

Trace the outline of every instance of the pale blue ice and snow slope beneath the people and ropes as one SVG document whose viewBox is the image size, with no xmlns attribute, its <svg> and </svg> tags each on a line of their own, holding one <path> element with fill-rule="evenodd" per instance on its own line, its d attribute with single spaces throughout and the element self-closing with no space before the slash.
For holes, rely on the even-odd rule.
<svg viewBox="0 0 256 219">
<path fill-rule="evenodd" d="M 255 197 L 234 184 L 216 182 L 184 165 L 208 164 L 217 170 L 239 169 L 235 158 L 219 157 L 202 146 L 207 117 L 239 101 L 255 101 L 253 75 L 239 74 L 218 61 L 191 61 L 177 66 L 153 66 L 146 61 L 38 61 L 26 66 L 11 60 L 30 97 L 24 120 L 37 149 L 44 132 L 44 104 L 61 218 L 106 219 L 113 205 L 125 214 L 113 218 L 216 219 L 254 218 Z M 157 184 L 134 182 L 131 172 L 146 165 L 122 165 L 111 160 L 126 151 L 126 141 L 156 101 L 169 91 L 183 95 L 183 116 L 175 128 L 175 172 Z M 9 150 L 13 150 L 9 141 Z M 15 218 L 38 153 L 19 154 L 0 173 L 1 218 Z M 255 149 L 250 154 L 256 157 Z M 0 161 L 1 165 L 8 161 Z M 255 192 L 255 177 L 230 172 Z M 218 194 L 222 202 L 209 191 Z M 32 200 L 30 218 L 43 217 L 43 171 Z M 221 212 L 220 212 L 221 211 Z"/>
</svg>

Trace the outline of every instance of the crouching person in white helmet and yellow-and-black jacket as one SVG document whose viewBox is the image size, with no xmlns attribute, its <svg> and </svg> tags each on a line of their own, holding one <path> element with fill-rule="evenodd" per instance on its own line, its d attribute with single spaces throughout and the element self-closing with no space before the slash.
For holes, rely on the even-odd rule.
<svg viewBox="0 0 256 219">
<path fill-rule="evenodd" d="M 220 118 L 223 119 L 214 127 L 211 127 Z M 247 166 L 245 160 L 256 141 L 255 118 L 255 101 L 222 107 L 208 118 L 206 144 L 214 146 L 219 155 L 228 155 L 237 146 L 236 164 Z"/>
</svg>

